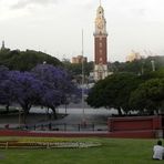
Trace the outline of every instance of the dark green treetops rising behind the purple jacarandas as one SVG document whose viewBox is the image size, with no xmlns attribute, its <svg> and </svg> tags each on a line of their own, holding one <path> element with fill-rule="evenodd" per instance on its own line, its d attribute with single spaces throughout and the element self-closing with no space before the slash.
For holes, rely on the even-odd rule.
<svg viewBox="0 0 164 164">
<path fill-rule="evenodd" d="M 10 51 L 9 49 L 0 51 L 0 65 L 6 65 L 10 70 L 30 71 L 37 64 L 43 62 L 52 65 L 62 65 L 57 58 L 40 51 Z"/>
</svg>

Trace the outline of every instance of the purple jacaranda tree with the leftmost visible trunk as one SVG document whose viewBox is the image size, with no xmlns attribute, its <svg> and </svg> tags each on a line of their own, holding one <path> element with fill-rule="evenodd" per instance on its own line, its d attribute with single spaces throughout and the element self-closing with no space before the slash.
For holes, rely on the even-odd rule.
<svg viewBox="0 0 164 164">
<path fill-rule="evenodd" d="M 24 113 L 23 121 L 33 104 L 41 102 L 43 92 L 42 82 L 30 72 L 10 71 L 10 92 L 12 92 L 14 103 L 18 103 Z"/>
</svg>

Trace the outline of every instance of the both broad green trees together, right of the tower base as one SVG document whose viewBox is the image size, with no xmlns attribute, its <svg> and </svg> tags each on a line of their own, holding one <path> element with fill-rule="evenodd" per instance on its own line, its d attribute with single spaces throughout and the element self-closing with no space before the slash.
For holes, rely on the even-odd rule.
<svg viewBox="0 0 164 164">
<path fill-rule="evenodd" d="M 86 102 L 93 107 L 116 109 L 119 114 L 131 111 L 152 114 L 164 107 L 164 70 L 143 75 L 115 73 L 91 89 Z"/>
</svg>

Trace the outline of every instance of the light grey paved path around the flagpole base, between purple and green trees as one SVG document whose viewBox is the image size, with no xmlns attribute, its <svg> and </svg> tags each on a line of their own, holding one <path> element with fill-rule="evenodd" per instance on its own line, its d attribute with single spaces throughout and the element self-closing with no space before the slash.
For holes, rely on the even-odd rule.
<svg viewBox="0 0 164 164">
<path fill-rule="evenodd" d="M 64 109 L 59 109 L 59 113 L 64 113 Z M 51 120 L 48 122 L 38 123 L 37 126 L 52 124 L 53 129 L 66 131 L 81 131 L 84 126 L 86 131 L 106 131 L 107 119 L 111 111 L 107 110 L 93 110 L 93 109 L 68 109 L 68 115 L 60 120 Z"/>
</svg>

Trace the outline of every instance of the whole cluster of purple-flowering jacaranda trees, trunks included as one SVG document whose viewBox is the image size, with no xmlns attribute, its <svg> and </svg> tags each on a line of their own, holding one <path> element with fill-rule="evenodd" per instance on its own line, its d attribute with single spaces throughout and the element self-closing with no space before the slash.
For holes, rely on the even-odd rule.
<svg viewBox="0 0 164 164">
<path fill-rule="evenodd" d="M 6 72 L 6 78 L 3 76 Z M 78 95 L 78 88 L 66 71 L 50 64 L 39 64 L 31 72 L 8 71 L 0 68 L 0 104 L 19 104 L 25 117 L 32 105 L 55 109 Z"/>
</svg>

